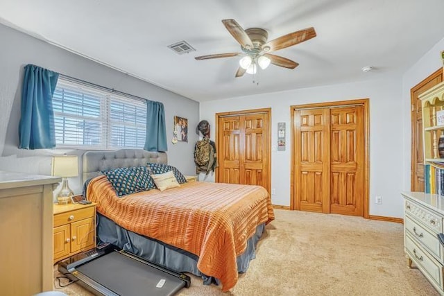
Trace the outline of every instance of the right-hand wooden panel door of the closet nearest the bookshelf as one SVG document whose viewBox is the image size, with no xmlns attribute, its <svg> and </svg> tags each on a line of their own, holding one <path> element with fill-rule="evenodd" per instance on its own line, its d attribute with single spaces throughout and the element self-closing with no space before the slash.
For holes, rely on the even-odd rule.
<svg viewBox="0 0 444 296">
<path fill-rule="evenodd" d="M 331 197 L 333 214 L 364 213 L 364 107 L 331 110 Z"/>
</svg>

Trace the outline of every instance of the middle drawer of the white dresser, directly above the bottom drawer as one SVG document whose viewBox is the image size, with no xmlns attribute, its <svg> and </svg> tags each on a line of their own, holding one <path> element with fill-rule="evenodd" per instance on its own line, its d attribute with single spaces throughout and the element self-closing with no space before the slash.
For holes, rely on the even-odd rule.
<svg viewBox="0 0 444 296">
<path fill-rule="evenodd" d="M 441 263 L 444 263 L 443 260 L 443 247 L 441 247 L 441 243 L 436 237 L 436 234 L 432 234 L 429 230 L 425 229 L 421 225 L 418 225 L 415 220 L 411 219 L 409 216 L 405 217 L 404 227 L 407 232 L 411 234 L 411 236 L 422 244 L 429 252 L 436 256 L 436 259 Z"/>
</svg>

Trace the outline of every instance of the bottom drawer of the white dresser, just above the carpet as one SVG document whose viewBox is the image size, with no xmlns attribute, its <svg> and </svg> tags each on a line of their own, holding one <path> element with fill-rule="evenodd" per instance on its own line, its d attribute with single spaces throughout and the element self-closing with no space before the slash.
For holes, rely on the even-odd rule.
<svg viewBox="0 0 444 296">
<path fill-rule="evenodd" d="M 405 249 L 418 268 L 443 289 L 443 265 L 429 257 L 427 252 L 413 242 L 409 234 L 405 236 Z"/>
</svg>

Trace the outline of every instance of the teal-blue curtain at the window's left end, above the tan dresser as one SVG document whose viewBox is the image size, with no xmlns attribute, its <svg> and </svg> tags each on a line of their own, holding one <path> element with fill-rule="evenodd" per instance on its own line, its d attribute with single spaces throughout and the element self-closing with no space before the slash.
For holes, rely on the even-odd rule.
<svg viewBox="0 0 444 296">
<path fill-rule="evenodd" d="M 22 116 L 19 123 L 19 148 L 56 147 L 52 97 L 58 73 L 28 64 L 22 89 Z"/>
</svg>

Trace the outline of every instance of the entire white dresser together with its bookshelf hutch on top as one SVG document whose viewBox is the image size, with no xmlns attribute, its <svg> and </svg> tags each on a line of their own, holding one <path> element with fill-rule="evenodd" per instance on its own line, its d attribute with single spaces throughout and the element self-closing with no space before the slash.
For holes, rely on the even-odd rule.
<svg viewBox="0 0 444 296">
<path fill-rule="evenodd" d="M 439 155 L 438 140 L 444 136 L 444 121 L 440 123 L 438 116 L 444 116 L 444 82 L 423 92 L 419 98 L 426 193 L 402 193 L 404 250 L 408 265 L 415 263 L 430 284 L 443 295 L 444 247 L 438 234 L 444 232 L 444 157 Z"/>
</svg>

